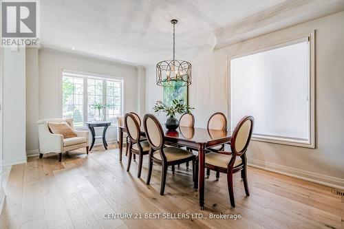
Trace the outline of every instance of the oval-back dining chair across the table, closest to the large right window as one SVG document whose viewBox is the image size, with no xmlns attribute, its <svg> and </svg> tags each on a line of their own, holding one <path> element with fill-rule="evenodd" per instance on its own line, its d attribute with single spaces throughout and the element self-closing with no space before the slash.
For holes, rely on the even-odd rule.
<svg viewBox="0 0 344 229">
<path fill-rule="evenodd" d="M 224 115 L 224 113 L 216 112 L 213 113 L 211 118 L 208 120 L 207 124 L 208 130 L 219 130 L 219 131 L 226 131 L 227 130 L 227 118 Z M 217 151 L 223 151 L 224 150 L 224 144 L 219 146 L 213 146 L 208 149 L 207 151 L 217 152 Z M 206 177 L 209 178 L 211 175 L 210 169 L 206 170 Z M 216 173 L 216 180 L 219 180 L 219 173 Z"/>
</svg>

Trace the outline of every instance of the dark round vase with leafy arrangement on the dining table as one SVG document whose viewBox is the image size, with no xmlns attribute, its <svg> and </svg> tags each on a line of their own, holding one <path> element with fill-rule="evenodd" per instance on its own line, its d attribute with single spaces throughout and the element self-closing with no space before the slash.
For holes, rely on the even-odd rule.
<svg viewBox="0 0 344 229">
<path fill-rule="evenodd" d="M 184 104 L 184 100 L 175 99 L 172 100 L 171 106 L 165 105 L 164 102 L 158 100 L 156 101 L 153 109 L 154 112 L 158 114 L 165 112 L 166 116 L 169 116 L 165 122 L 166 128 L 169 129 L 169 131 L 175 131 L 175 129 L 177 129 L 179 126 L 179 121 L 177 118 L 175 118 L 175 113 L 190 113 L 191 109 L 194 108 Z"/>
</svg>

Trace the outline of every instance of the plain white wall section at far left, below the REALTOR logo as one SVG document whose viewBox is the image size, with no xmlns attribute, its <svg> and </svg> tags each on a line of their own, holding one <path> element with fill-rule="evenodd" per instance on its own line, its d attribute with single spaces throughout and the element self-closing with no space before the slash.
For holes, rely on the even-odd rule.
<svg viewBox="0 0 344 229">
<path fill-rule="evenodd" d="M 25 48 L 3 49 L 3 165 L 26 162 Z"/>
</svg>

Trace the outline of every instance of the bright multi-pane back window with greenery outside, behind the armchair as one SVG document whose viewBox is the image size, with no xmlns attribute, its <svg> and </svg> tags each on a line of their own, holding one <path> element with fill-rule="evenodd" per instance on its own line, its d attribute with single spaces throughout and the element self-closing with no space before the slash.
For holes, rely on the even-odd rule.
<svg viewBox="0 0 344 229">
<path fill-rule="evenodd" d="M 74 118 L 76 127 L 122 116 L 122 78 L 63 69 L 62 81 L 63 118 Z"/>
</svg>

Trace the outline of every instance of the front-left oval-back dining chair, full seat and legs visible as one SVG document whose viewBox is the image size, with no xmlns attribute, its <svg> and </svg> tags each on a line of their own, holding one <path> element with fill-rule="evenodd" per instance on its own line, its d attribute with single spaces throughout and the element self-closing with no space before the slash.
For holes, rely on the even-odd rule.
<svg viewBox="0 0 344 229">
<path fill-rule="evenodd" d="M 153 163 L 162 166 L 160 195 L 164 195 L 164 189 L 166 184 L 167 167 L 175 164 L 182 164 L 184 162 L 193 162 L 193 182 L 194 187 L 197 188 L 197 170 L 198 163 L 196 156 L 190 151 L 181 149 L 174 146 L 164 147 L 164 132 L 160 122 L 152 114 L 146 114 L 143 118 L 144 132 L 146 133 L 147 140 L 149 142 L 149 165 L 147 175 L 147 185 L 151 182 L 151 173 Z"/>
</svg>

